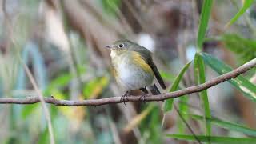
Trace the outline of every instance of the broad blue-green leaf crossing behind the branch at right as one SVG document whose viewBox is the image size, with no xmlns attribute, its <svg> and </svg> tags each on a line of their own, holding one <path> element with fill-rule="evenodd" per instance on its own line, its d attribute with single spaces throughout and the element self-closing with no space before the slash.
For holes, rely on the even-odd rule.
<svg viewBox="0 0 256 144">
<path fill-rule="evenodd" d="M 217 58 L 210 56 L 210 54 L 202 53 L 202 58 L 210 68 L 216 71 L 218 74 L 226 74 L 233 70 L 230 66 L 227 66 L 224 62 L 221 62 Z M 248 81 L 246 78 L 239 75 L 237 78 L 232 78 L 230 82 L 238 90 L 241 90 L 247 98 L 250 98 L 256 102 L 256 86 Z"/>
</svg>

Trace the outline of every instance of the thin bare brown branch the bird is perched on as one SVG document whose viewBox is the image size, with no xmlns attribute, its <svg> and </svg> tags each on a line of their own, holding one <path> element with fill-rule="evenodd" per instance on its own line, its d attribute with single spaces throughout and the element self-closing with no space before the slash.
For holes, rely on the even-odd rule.
<svg viewBox="0 0 256 144">
<path fill-rule="evenodd" d="M 205 82 L 198 86 L 191 86 L 183 90 L 174 91 L 166 94 L 159 95 L 149 95 L 145 98 L 146 102 L 151 101 L 163 101 L 168 98 L 178 98 L 186 94 L 192 94 L 196 92 L 200 92 L 202 90 L 206 90 L 212 86 L 216 86 L 221 82 L 225 82 L 230 80 L 231 78 L 236 78 L 238 75 L 245 73 L 247 70 L 256 66 L 256 58 L 251 60 L 250 62 L 246 62 L 246 64 L 238 67 L 235 70 L 230 71 L 229 73 L 222 74 L 216 78 L 211 79 L 208 82 Z M 44 98 L 46 103 L 54 104 L 55 106 L 101 106 L 112 103 L 121 103 L 121 97 L 112 97 L 112 98 L 102 98 L 102 99 L 90 99 L 83 101 L 71 101 L 71 100 L 60 100 L 55 99 L 54 97 Z M 127 97 L 126 102 L 140 102 L 141 99 L 139 96 L 130 96 Z M 41 102 L 39 97 L 34 98 L 0 98 L 0 104 L 34 104 Z"/>
</svg>

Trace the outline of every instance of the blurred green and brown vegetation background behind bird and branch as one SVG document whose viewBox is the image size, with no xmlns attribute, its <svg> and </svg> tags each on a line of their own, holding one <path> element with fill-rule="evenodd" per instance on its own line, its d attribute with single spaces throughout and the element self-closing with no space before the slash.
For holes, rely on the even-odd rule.
<svg viewBox="0 0 256 144">
<path fill-rule="evenodd" d="M 38 96 L 22 63 L 45 97 L 121 96 L 104 46 L 122 38 L 152 51 L 168 86 L 164 93 L 256 58 L 252 0 L 0 2 L 0 98 Z M 254 68 L 174 101 L 47 108 L 55 143 L 256 142 L 255 83 Z M 50 143 L 42 104 L 1 104 L 0 122 L 0 143 Z"/>
</svg>

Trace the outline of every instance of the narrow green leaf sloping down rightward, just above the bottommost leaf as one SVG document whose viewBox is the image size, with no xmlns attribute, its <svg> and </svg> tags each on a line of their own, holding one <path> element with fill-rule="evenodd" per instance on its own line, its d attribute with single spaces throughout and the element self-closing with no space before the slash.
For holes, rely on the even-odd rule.
<svg viewBox="0 0 256 144">
<path fill-rule="evenodd" d="M 196 120 L 203 120 L 203 117 L 200 115 L 192 115 L 192 114 L 186 114 L 186 115 L 188 115 L 191 118 L 194 118 Z M 242 132 L 244 134 L 248 134 L 250 136 L 256 136 L 256 130 L 247 128 L 245 126 L 240 126 L 238 124 L 234 124 L 231 122 L 225 122 L 218 118 L 206 118 L 206 120 L 216 126 L 219 126 L 219 127 L 222 127 L 222 128 L 228 129 L 228 130 L 234 130 L 234 131 Z"/>
</svg>

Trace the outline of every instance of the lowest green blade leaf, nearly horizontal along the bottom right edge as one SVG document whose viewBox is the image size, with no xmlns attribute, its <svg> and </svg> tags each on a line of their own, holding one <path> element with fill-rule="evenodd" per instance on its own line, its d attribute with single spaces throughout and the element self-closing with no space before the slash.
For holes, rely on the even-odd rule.
<svg viewBox="0 0 256 144">
<path fill-rule="evenodd" d="M 196 141 L 194 138 L 194 135 L 182 135 L 182 134 L 167 134 L 167 137 L 170 138 L 177 138 L 181 140 L 187 140 L 187 141 Z M 201 142 L 218 142 L 218 143 L 238 143 L 238 144 L 246 144 L 246 143 L 255 143 L 256 138 L 234 138 L 234 137 L 218 137 L 218 136 L 204 136 L 204 135 L 197 135 L 197 138 Z"/>
</svg>

